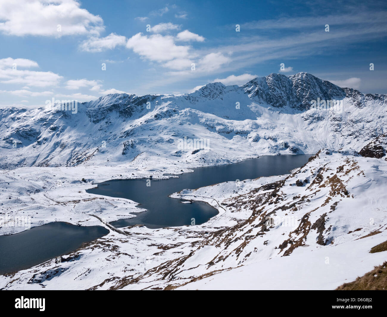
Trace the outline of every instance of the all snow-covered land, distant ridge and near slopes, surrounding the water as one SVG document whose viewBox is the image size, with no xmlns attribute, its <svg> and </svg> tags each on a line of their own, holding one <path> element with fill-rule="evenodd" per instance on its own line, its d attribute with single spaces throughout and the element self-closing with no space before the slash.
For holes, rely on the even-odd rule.
<svg viewBox="0 0 387 317">
<path fill-rule="evenodd" d="M 342 111 L 311 109 L 318 98 L 344 99 Z M 31 227 L 66 221 L 110 233 L 60 263 L 0 276 L 0 289 L 334 289 L 353 281 L 385 261 L 385 251 L 369 251 L 387 238 L 386 102 L 299 73 L 179 96 L 112 94 L 77 113 L 3 108 L 0 213 L 31 216 Z M 209 142 L 181 148 L 185 137 Z M 132 217 L 137 203 L 86 192 L 109 179 L 289 153 L 315 155 L 289 175 L 173 194 L 219 211 L 200 225 L 117 230 L 106 221 Z M 5 225 L 0 235 L 23 230 Z"/>
</svg>

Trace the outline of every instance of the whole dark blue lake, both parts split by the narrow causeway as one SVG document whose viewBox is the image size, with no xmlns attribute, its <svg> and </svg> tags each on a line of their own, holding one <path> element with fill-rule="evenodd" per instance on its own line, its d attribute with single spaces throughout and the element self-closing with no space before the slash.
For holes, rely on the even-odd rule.
<svg viewBox="0 0 387 317">
<path fill-rule="evenodd" d="M 260 176 L 283 175 L 300 167 L 310 155 L 262 156 L 240 163 L 195 168 L 193 173 L 183 173 L 178 178 L 166 180 L 147 179 L 110 180 L 87 190 L 91 194 L 122 197 L 134 200 L 145 212 L 137 217 L 113 221 L 116 227 L 135 224 L 148 228 L 202 224 L 218 211 L 204 202 L 182 204 L 181 199 L 168 195 L 185 188 L 195 189 L 216 183 L 253 179 Z M 43 263 L 81 247 L 82 243 L 96 240 L 109 232 L 102 226 L 75 226 L 55 222 L 31 228 L 14 235 L 0 236 L 0 274 L 19 271 Z"/>
</svg>

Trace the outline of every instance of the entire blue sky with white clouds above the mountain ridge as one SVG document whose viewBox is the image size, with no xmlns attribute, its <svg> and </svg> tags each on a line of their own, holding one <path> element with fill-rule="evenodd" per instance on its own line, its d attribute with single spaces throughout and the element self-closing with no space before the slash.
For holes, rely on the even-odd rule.
<svg viewBox="0 0 387 317">
<path fill-rule="evenodd" d="M 382 1 L 6 1 L 0 105 L 189 93 L 297 72 L 387 93 L 386 31 Z"/>
</svg>

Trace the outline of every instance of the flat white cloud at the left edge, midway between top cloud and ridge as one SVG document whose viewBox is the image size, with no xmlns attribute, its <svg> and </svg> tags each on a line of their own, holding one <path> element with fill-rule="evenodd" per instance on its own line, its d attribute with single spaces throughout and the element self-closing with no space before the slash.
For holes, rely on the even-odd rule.
<svg viewBox="0 0 387 317">
<path fill-rule="evenodd" d="M 13 68 L 12 64 L 16 64 Z M 38 63 L 24 58 L 0 59 L 0 82 L 3 84 L 22 84 L 34 87 L 57 86 L 62 76 L 53 72 L 21 70 L 20 68 L 38 67 Z"/>
</svg>

